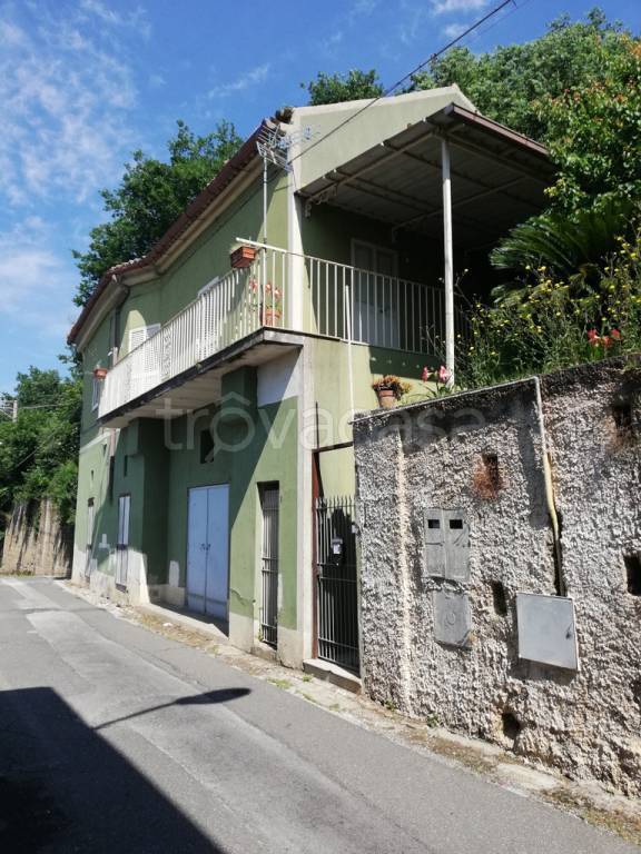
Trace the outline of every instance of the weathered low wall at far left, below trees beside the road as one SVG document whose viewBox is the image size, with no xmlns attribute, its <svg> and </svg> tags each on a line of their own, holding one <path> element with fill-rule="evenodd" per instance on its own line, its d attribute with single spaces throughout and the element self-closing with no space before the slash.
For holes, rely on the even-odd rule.
<svg viewBox="0 0 641 854">
<path fill-rule="evenodd" d="M 18 504 L 4 533 L 0 574 L 71 575 L 73 534 L 48 498 Z"/>
</svg>

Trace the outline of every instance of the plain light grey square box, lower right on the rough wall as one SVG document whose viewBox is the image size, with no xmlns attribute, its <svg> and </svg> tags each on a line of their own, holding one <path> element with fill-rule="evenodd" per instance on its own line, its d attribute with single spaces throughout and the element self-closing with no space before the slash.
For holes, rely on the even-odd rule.
<svg viewBox="0 0 641 854">
<path fill-rule="evenodd" d="M 579 669 L 574 602 L 566 596 L 516 594 L 519 657 Z"/>
</svg>

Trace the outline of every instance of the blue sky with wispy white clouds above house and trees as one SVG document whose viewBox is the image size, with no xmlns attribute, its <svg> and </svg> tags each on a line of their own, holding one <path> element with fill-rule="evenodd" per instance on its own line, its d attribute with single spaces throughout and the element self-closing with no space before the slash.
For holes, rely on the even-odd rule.
<svg viewBox="0 0 641 854">
<path fill-rule="evenodd" d="M 185 119 L 246 135 L 318 71 L 376 68 L 384 83 L 497 0 L 0 0 L 0 391 L 56 367 L 77 309 L 71 249 L 102 217 L 99 190 L 135 148 L 161 155 Z M 516 0 L 465 43 L 542 33 L 581 0 Z M 638 30 L 639 0 L 601 3 Z"/>
</svg>

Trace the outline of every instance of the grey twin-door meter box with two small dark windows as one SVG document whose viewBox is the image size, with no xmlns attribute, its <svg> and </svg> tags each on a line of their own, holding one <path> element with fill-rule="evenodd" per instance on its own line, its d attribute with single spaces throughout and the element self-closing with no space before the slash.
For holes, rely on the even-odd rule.
<svg viewBox="0 0 641 854">
<path fill-rule="evenodd" d="M 441 507 L 424 512 L 424 555 L 426 575 L 470 580 L 470 526 L 462 510 Z"/>
</svg>

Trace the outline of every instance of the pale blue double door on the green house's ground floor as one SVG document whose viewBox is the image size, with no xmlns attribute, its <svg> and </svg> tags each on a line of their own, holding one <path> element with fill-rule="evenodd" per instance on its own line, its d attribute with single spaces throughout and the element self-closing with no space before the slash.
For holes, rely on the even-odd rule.
<svg viewBox="0 0 641 854">
<path fill-rule="evenodd" d="M 227 619 L 229 598 L 229 487 L 189 489 L 187 606 Z"/>
</svg>

